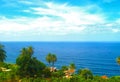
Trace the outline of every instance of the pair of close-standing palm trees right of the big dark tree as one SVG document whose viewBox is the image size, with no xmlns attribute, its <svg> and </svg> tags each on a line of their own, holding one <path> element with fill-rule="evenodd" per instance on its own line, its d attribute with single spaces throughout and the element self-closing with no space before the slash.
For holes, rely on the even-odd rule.
<svg viewBox="0 0 120 82">
<path fill-rule="evenodd" d="M 46 61 L 49 63 L 49 66 L 52 65 L 52 67 L 54 67 L 54 63 L 57 61 L 57 57 L 56 57 L 55 54 L 49 53 L 49 54 L 46 56 Z"/>
</svg>

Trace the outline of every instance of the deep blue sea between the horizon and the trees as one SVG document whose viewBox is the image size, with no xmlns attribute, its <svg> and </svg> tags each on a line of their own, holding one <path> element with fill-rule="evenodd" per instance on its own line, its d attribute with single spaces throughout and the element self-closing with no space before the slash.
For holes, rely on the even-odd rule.
<svg viewBox="0 0 120 82">
<path fill-rule="evenodd" d="M 75 63 L 77 69 L 89 68 L 95 75 L 120 75 L 116 57 L 120 56 L 119 42 L 1 42 L 7 52 L 6 62 L 15 63 L 23 47 L 33 46 L 34 56 L 48 64 L 48 53 L 57 55 L 55 66 Z"/>
</svg>

